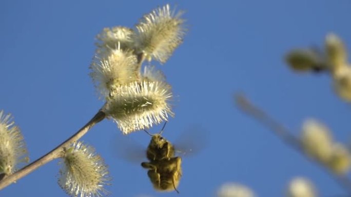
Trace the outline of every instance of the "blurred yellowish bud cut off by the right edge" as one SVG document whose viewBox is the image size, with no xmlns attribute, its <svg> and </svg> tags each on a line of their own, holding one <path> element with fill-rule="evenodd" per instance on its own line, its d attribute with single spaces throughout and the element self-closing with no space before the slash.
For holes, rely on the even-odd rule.
<svg viewBox="0 0 351 197">
<path fill-rule="evenodd" d="M 345 101 L 351 101 L 351 67 L 345 65 L 333 73 L 334 89 Z"/>
</svg>

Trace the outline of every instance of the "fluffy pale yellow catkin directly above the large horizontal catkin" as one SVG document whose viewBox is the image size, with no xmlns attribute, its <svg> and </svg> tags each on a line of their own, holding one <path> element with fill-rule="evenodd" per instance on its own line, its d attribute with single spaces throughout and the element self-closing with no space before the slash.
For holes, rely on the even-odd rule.
<svg viewBox="0 0 351 197">
<path fill-rule="evenodd" d="M 96 57 L 90 65 L 90 76 L 103 97 L 122 84 L 139 80 L 136 56 L 120 48 L 112 50 L 107 58 Z"/>
</svg>

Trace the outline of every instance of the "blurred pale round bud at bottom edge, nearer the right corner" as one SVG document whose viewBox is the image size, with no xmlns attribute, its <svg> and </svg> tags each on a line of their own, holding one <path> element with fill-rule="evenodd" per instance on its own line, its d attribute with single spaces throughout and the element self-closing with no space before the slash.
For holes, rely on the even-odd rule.
<svg viewBox="0 0 351 197">
<path fill-rule="evenodd" d="M 316 197 L 317 192 L 313 184 L 305 178 L 297 177 L 290 181 L 287 197 Z"/>
</svg>

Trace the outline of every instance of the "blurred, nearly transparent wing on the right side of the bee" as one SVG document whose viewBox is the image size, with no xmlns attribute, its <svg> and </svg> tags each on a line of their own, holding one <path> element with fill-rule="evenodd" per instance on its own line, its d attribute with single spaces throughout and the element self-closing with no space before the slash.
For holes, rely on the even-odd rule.
<svg viewBox="0 0 351 197">
<path fill-rule="evenodd" d="M 189 126 L 174 141 L 175 154 L 179 156 L 193 156 L 201 152 L 208 145 L 208 130 L 199 125 Z"/>
</svg>

